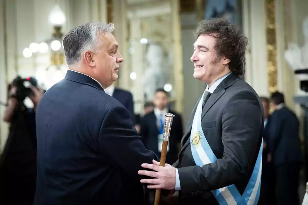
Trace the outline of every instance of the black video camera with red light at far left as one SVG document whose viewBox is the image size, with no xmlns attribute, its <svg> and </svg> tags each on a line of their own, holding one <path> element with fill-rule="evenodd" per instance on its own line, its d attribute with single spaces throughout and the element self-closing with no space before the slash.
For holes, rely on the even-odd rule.
<svg viewBox="0 0 308 205">
<path fill-rule="evenodd" d="M 16 87 L 16 98 L 17 101 L 24 101 L 26 97 L 29 97 L 32 94 L 32 89 L 30 85 L 37 87 L 38 82 L 34 77 L 21 78 L 20 76 L 16 77 L 12 83 Z"/>
</svg>

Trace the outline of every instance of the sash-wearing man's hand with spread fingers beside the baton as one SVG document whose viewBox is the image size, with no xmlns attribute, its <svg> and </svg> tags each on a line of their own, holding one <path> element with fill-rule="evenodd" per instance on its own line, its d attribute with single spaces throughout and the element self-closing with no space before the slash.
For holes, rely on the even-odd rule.
<svg viewBox="0 0 308 205">
<path fill-rule="evenodd" d="M 149 189 L 175 189 L 176 168 L 170 164 L 164 167 L 159 166 L 159 162 L 153 160 L 153 164 L 142 164 L 143 168 L 152 169 L 154 171 L 139 170 L 138 174 L 150 176 L 156 179 L 141 179 L 141 183 L 150 184 Z"/>
</svg>

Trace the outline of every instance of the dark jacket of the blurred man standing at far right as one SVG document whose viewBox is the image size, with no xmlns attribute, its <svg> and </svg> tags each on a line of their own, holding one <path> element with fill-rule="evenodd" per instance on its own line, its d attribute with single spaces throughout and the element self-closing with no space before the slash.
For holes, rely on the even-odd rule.
<svg viewBox="0 0 308 205">
<path fill-rule="evenodd" d="M 273 112 L 268 145 L 274 166 L 289 162 L 302 162 L 298 131 L 298 119 L 290 109 L 282 107 Z"/>
</svg>

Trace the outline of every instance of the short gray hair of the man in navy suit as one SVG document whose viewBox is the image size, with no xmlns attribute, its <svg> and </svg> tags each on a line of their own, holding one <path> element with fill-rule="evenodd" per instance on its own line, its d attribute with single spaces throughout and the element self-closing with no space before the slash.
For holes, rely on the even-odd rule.
<svg viewBox="0 0 308 205">
<path fill-rule="evenodd" d="M 67 65 L 77 65 L 86 50 L 98 52 L 102 45 L 97 34 L 112 32 L 114 24 L 105 22 L 85 23 L 70 30 L 63 38 L 63 48 Z"/>
</svg>

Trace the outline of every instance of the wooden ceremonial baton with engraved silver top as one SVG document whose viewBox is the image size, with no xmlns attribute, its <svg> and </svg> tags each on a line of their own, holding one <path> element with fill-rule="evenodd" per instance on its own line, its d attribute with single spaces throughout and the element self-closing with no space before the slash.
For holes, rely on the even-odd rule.
<svg viewBox="0 0 308 205">
<path fill-rule="evenodd" d="M 165 114 L 165 125 L 164 125 L 164 134 L 163 134 L 163 144 L 161 147 L 161 154 L 160 154 L 160 163 L 159 166 L 164 167 L 166 162 L 166 155 L 167 155 L 167 148 L 168 148 L 168 141 L 170 136 L 170 129 L 174 115 L 171 113 Z M 155 191 L 155 200 L 154 205 L 158 205 L 160 201 L 160 191 L 161 189 L 156 189 Z"/>
</svg>

